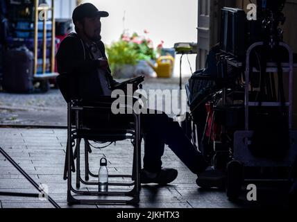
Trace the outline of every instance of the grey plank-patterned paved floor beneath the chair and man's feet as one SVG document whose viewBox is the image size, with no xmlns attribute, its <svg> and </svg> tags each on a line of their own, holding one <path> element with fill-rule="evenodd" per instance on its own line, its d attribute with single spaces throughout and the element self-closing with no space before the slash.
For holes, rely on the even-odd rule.
<svg viewBox="0 0 297 222">
<path fill-rule="evenodd" d="M 52 129 L 0 129 L 0 146 L 38 183 L 49 187 L 49 195 L 61 207 L 67 205 L 67 183 L 62 179 L 66 130 Z M 83 144 L 82 144 L 83 145 Z M 143 147 L 142 147 L 143 150 Z M 103 154 L 104 153 L 104 154 Z M 142 151 L 143 153 L 143 151 Z M 99 160 L 108 159 L 110 173 L 130 173 L 132 171 L 132 148 L 129 141 L 118 142 L 117 146 L 96 150 L 90 155 L 90 169 L 96 173 Z M 81 160 L 82 162 L 84 160 Z M 143 185 L 139 207 L 171 207 L 171 208 L 226 208 L 226 207 L 282 207 L 284 196 L 278 190 L 258 191 L 258 201 L 246 200 L 243 191 L 237 203 L 232 203 L 224 191 L 217 189 L 203 190 L 197 187 L 196 176 L 166 148 L 162 158 L 164 167 L 178 169 L 178 178 L 171 185 L 157 187 Z M 33 186 L 0 155 L 0 191 L 35 193 Z M 83 166 L 81 171 L 84 172 Z M 75 186 L 75 184 L 74 184 Z M 95 190 L 96 187 L 85 187 L 81 190 Z M 110 187 L 114 189 L 114 187 Z M 244 188 L 243 188 L 244 189 Z M 0 196 L 0 207 L 52 207 L 49 203 L 37 198 L 20 198 Z M 72 207 L 115 207 L 114 205 L 76 205 Z M 122 206 L 117 206 L 122 207 Z M 124 206 L 133 207 L 133 206 Z"/>
</svg>

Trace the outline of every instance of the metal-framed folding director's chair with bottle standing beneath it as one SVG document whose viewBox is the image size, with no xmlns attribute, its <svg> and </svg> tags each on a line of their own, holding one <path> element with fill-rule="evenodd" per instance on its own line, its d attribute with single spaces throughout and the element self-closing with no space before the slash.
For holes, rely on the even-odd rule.
<svg viewBox="0 0 297 222">
<path fill-rule="evenodd" d="M 100 96 L 96 102 L 82 101 L 78 99 L 71 89 L 71 81 L 69 75 L 61 74 L 57 77 L 57 84 L 60 91 L 67 101 L 67 151 L 65 155 L 65 171 L 64 179 L 67 180 L 67 202 L 73 204 L 131 204 L 139 203 L 140 178 L 141 169 L 141 141 L 140 135 L 140 116 L 136 114 L 133 107 L 128 105 L 120 105 L 120 109 L 127 112 L 129 109 L 133 114 L 125 114 L 130 121 L 127 123 L 119 123 L 119 117 L 112 114 L 113 99 L 110 96 Z M 86 121 L 88 114 L 96 113 L 96 122 L 98 124 Z M 90 118 L 89 118 L 90 119 Z M 91 120 L 92 121 L 92 120 Z M 85 141 L 85 180 L 80 175 L 80 142 Z M 98 175 L 92 173 L 89 167 L 89 153 L 92 153 L 90 141 L 100 143 L 113 143 L 131 139 L 133 144 L 133 171 L 131 175 L 109 175 L 109 178 L 130 178 L 131 182 L 109 182 L 108 186 L 114 187 L 133 187 L 129 191 L 81 191 L 78 190 L 80 182 L 88 186 L 99 186 L 99 182 L 89 182 L 90 176 L 97 178 Z M 75 151 L 73 152 L 73 147 Z M 76 160 L 76 167 L 75 162 Z M 76 189 L 72 186 L 71 174 L 76 172 Z M 87 196 L 88 198 L 76 198 Z M 92 196 L 124 196 L 129 199 L 99 199 L 90 198 Z"/>
</svg>

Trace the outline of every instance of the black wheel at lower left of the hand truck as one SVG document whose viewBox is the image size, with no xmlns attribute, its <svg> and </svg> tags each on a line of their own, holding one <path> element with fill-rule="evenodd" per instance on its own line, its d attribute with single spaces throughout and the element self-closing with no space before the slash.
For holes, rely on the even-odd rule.
<svg viewBox="0 0 297 222">
<path fill-rule="evenodd" d="M 243 165 L 238 161 L 231 161 L 227 166 L 226 193 L 230 200 L 239 198 L 243 180 Z"/>
</svg>

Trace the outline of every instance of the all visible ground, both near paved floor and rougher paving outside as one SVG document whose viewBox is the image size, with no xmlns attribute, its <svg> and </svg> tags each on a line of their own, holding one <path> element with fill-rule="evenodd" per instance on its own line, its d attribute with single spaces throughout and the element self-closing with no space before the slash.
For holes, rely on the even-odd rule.
<svg viewBox="0 0 297 222">
<path fill-rule="evenodd" d="M 144 89 L 178 89 L 178 80 L 149 80 Z M 0 93 L 0 123 L 29 125 L 66 125 L 66 104 L 58 89 L 46 94 Z M 16 160 L 17 164 L 38 183 L 49 187 L 49 194 L 61 207 L 67 205 L 67 184 L 62 180 L 66 130 L 0 128 L 0 146 Z M 99 169 L 99 159 L 108 158 L 110 173 L 130 173 L 130 142 L 118 142 L 117 146 L 104 151 L 94 150 L 90 156 L 91 169 Z M 143 153 L 143 152 L 142 152 Z M 83 160 L 82 160 L 83 161 Z M 179 175 L 173 184 L 166 187 L 142 186 L 139 207 L 261 207 L 284 205 L 284 198 L 278 191 L 259 194 L 258 201 L 250 203 L 243 195 L 237 203 L 231 203 L 224 191 L 199 189 L 193 175 L 178 160 L 169 148 L 163 157 L 164 167 L 178 169 Z M 82 186 L 80 189 L 94 189 Z M 33 186 L 0 155 L 0 191 L 35 192 Z M 0 196 L 0 207 L 51 207 L 49 203 L 36 198 Z M 87 205 L 73 207 L 114 207 Z M 131 206 L 125 206 L 131 207 Z"/>
</svg>

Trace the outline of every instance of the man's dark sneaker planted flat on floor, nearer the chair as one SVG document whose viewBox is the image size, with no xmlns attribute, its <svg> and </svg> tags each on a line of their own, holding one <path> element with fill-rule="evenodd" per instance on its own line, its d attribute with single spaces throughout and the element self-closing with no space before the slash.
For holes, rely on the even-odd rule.
<svg viewBox="0 0 297 222">
<path fill-rule="evenodd" d="M 156 176 L 151 178 L 148 173 L 142 169 L 140 173 L 140 182 L 142 184 L 157 183 L 159 185 L 167 185 L 178 177 L 178 171 L 176 169 L 161 169 Z"/>
</svg>

